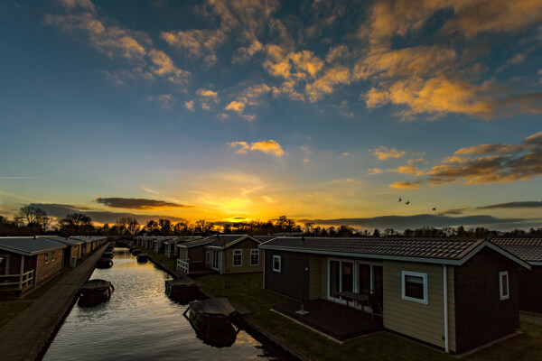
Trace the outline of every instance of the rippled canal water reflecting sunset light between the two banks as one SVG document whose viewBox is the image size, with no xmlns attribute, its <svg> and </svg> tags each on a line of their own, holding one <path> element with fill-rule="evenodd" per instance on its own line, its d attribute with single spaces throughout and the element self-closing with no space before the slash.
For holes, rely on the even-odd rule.
<svg viewBox="0 0 542 361">
<path fill-rule="evenodd" d="M 204 344 L 182 315 L 188 306 L 164 293 L 171 276 L 123 250 L 116 249 L 112 268 L 90 277 L 113 283 L 111 300 L 73 306 L 43 360 L 276 360 L 242 330 L 231 347 Z"/>
</svg>

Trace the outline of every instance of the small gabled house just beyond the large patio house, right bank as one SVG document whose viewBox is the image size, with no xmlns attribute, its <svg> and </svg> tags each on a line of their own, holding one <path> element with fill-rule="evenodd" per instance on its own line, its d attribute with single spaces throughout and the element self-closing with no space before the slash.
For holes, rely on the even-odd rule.
<svg viewBox="0 0 542 361">
<path fill-rule="evenodd" d="M 260 241 L 248 235 L 216 236 L 212 243 L 203 246 L 205 266 L 220 274 L 262 272 L 259 244 Z"/>
</svg>

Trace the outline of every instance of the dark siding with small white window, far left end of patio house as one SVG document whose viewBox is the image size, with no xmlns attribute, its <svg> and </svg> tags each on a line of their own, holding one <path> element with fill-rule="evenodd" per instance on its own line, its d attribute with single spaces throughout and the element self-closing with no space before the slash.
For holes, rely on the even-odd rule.
<svg viewBox="0 0 542 361">
<path fill-rule="evenodd" d="M 273 271 L 273 256 L 281 256 L 281 272 Z M 309 299 L 310 255 L 266 250 L 266 289 L 283 293 L 294 299 Z"/>
</svg>

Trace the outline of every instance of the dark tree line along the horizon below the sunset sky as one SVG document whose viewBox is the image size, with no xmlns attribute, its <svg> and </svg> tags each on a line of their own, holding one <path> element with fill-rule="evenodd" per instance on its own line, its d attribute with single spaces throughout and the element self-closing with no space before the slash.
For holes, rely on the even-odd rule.
<svg viewBox="0 0 542 361">
<path fill-rule="evenodd" d="M 33 236 L 33 235 L 57 235 L 57 236 L 209 236 L 212 234 L 248 234 L 253 236 L 274 235 L 277 233 L 304 233 L 307 236 L 322 237 L 431 237 L 431 238 L 490 238 L 496 236 L 507 237 L 541 237 L 542 228 L 530 228 L 528 231 L 514 229 L 508 232 L 500 232 L 484 227 L 466 229 L 459 227 L 421 227 L 417 229 L 405 229 L 397 232 L 393 228 L 380 231 L 378 228 L 372 232 L 369 230 L 357 230 L 348 225 L 339 227 L 320 227 L 313 222 L 298 225 L 293 219 L 281 216 L 275 220 L 247 222 L 231 222 L 215 225 L 200 219 L 195 223 L 177 222 L 170 219 L 160 218 L 147 221 L 145 225 L 139 224 L 134 217 L 118 218 L 114 224 L 104 224 L 101 227 L 94 226 L 92 218 L 83 213 L 72 213 L 65 218 L 56 220 L 52 225 L 52 218 L 41 208 L 24 206 L 13 220 L 0 216 L 0 236 Z"/>
</svg>

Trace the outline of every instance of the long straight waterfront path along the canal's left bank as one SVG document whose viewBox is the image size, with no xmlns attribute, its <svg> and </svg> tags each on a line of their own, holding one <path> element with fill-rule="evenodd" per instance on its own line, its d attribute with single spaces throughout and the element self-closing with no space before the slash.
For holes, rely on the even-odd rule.
<svg viewBox="0 0 542 361">
<path fill-rule="evenodd" d="M 1 361 L 33 361 L 40 355 L 106 248 L 99 248 L 0 329 Z"/>
</svg>

